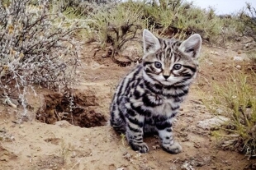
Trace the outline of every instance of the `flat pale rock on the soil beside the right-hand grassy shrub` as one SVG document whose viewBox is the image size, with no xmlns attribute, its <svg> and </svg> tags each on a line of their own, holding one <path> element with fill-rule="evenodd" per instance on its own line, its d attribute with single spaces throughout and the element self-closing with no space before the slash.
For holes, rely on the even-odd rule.
<svg viewBox="0 0 256 170">
<path fill-rule="evenodd" d="M 204 121 L 197 122 L 197 127 L 200 127 L 204 130 L 211 130 L 216 127 L 220 127 L 221 125 L 224 125 L 225 122 L 230 121 L 230 118 L 223 117 L 223 116 L 216 116 L 210 119 L 206 119 Z"/>
</svg>

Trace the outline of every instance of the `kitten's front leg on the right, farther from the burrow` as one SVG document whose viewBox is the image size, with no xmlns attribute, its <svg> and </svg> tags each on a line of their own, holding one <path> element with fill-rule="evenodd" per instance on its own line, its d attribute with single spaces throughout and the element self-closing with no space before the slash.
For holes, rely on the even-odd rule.
<svg viewBox="0 0 256 170">
<path fill-rule="evenodd" d="M 170 154 L 178 154 L 183 150 L 183 148 L 173 139 L 172 126 L 172 122 L 168 119 L 164 122 L 156 123 L 163 149 Z"/>
</svg>

